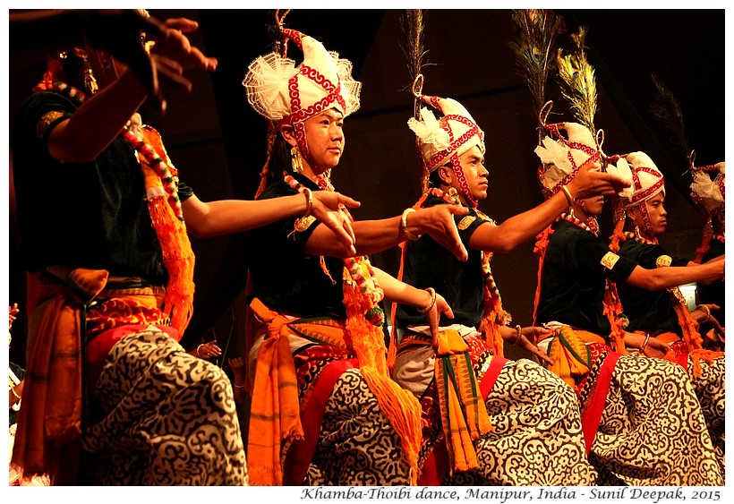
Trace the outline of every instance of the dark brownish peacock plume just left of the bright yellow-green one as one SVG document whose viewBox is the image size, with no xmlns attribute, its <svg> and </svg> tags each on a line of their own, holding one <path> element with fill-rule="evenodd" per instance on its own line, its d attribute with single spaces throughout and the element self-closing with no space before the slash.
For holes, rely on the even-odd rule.
<svg viewBox="0 0 734 504">
<path fill-rule="evenodd" d="M 545 104 L 545 86 L 555 65 L 556 39 L 565 32 L 563 18 L 547 9 L 517 9 L 512 20 L 519 30 L 509 47 L 515 53 L 517 71 L 533 95 L 537 116 Z"/>
</svg>

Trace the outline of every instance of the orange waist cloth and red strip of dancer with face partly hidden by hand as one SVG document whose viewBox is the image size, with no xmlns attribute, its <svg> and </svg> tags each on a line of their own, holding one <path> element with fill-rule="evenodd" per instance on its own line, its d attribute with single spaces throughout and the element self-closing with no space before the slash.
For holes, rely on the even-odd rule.
<svg viewBox="0 0 734 504">
<path fill-rule="evenodd" d="M 611 376 L 619 360 L 603 337 L 564 325 L 543 339 L 546 353 L 553 360 L 546 367 L 576 392 L 581 406 L 586 455 L 602 420 Z"/>
</svg>

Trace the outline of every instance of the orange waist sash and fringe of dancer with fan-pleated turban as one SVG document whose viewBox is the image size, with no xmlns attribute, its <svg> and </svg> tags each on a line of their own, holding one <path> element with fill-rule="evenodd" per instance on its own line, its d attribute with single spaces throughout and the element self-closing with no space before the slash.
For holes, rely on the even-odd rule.
<svg viewBox="0 0 734 504">
<path fill-rule="evenodd" d="M 257 334 L 267 334 L 258 348 L 252 385 L 247 448 L 250 483 L 303 484 L 327 401 L 342 373 L 356 367 L 400 439 L 415 433 L 411 446 L 416 456 L 411 466 L 417 480 L 420 405 L 389 379 L 381 330 L 380 340 L 371 341 L 367 330 L 358 332 L 352 327 L 350 332 L 348 319 L 290 317 L 271 311 L 257 298 L 250 308 L 260 322 Z M 313 345 L 293 356 L 291 345 L 297 346 L 298 338 Z M 403 448 L 407 451 L 405 442 Z"/>
</svg>

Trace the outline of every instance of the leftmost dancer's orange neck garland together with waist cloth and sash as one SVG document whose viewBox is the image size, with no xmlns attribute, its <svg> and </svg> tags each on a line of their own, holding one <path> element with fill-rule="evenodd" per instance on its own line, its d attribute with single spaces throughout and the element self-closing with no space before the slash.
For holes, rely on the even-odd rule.
<svg viewBox="0 0 734 504">
<path fill-rule="evenodd" d="M 13 447 L 13 464 L 26 475 L 47 473 L 55 483 L 74 483 L 83 428 L 82 346 L 86 342 L 92 342 L 85 358 L 93 384 L 107 353 L 126 334 L 149 324 L 171 325 L 163 329 L 178 340 L 191 319 L 191 243 L 152 166 L 153 158 L 168 159 L 160 136 L 147 129 L 143 138 L 138 147 L 146 155 L 139 160 L 168 285 L 166 289 L 112 287 L 104 292 L 106 270 L 56 268 L 28 274 L 28 310 L 36 325 L 31 325 L 29 335 L 28 379 Z M 92 301 L 98 303 L 90 309 Z"/>
</svg>

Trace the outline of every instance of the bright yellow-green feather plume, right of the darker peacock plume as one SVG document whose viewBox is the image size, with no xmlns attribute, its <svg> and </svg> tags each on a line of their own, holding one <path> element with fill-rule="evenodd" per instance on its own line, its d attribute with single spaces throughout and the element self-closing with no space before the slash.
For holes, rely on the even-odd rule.
<svg viewBox="0 0 734 504">
<path fill-rule="evenodd" d="M 571 113 L 596 136 L 593 116 L 596 115 L 596 80 L 593 66 L 586 60 L 586 29 L 580 27 L 570 35 L 567 49 L 559 49 L 557 63 L 561 94 L 568 100 Z"/>
</svg>

